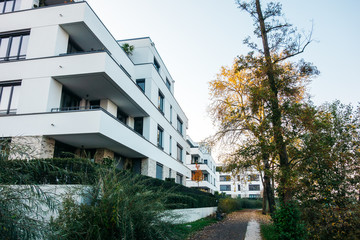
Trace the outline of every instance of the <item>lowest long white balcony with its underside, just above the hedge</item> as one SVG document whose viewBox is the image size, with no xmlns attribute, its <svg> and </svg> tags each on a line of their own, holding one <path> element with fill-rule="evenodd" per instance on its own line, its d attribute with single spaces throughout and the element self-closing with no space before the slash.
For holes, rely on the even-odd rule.
<svg viewBox="0 0 360 240">
<path fill-rule="evenodd" d="M 66 111 L 65 111 L 66 110 Z M 76 148 L 107 148 L 129 158 L 151 158 L 186 177 L 189 169 L 102 108 L 1 115 L 4 137 L 47 136 Z"/>
</svg>

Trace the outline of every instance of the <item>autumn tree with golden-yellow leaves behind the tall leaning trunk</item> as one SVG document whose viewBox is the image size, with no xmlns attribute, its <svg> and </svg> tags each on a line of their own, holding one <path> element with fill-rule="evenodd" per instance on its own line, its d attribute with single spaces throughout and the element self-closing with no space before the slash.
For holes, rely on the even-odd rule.
<svg viewBox="0 0 360 240">
<path fill-rule="evenodd" d="M 241 68 L 250 59 L 252 67 Z M 273 212 L 275 201 L 270 178 L 275 177 L 272 168 L 275 167 L 277 155 L 271 127 L 272 96 L 264 64 L 262 56 L 250 53 L 246 57 L 239 57 L 231 68 L 223 67 L 217 79 L 210 82 L 210 109 L 219 129 L 213 140 L 236 144 L 236 150 L 227 155 L 228 170 L 255 166 L 263 171 L 265 196 L 270 212 Z M 302 70 L 304 64 L 279 62 L 274 65 L 278 76 L 279 105 L 286 120 L 285 139 L 289 145 L 296 142 L 299 129 L 291 127 L 297 125 L 294 112 L 303 111 L 301 103 L 305 88 L 313 76 L 313 72 Z"/>
</svg>

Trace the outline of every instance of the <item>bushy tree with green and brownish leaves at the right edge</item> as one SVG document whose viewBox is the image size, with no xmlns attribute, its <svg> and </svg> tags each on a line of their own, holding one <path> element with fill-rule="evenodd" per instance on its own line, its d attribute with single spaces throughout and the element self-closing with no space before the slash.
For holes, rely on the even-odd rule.
<svg viewBox="0 0 360 240">
<path fill-rule="evenodd" d="M 308 115 L 296 198 L 312 239 L 360 236 L 360 114 L 339 101 Z"/>
</svg>

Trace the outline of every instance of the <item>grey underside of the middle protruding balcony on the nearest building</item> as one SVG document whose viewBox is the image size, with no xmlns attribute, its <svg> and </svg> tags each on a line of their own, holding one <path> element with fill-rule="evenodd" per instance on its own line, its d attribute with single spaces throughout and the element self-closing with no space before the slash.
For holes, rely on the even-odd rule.
<svg viewBox="0 0 360 240">
<path fill-rule="evenodd" d="M 90 101 L 110 99 L 122 112 L 129 116 L 148 116 L 126 92 L 119 86 L 113 84 L 105 73 L 57 76 L 54 78 L 80 98 Z M 139 94 L 142 94 L 140 90 Z"/>
</svg>

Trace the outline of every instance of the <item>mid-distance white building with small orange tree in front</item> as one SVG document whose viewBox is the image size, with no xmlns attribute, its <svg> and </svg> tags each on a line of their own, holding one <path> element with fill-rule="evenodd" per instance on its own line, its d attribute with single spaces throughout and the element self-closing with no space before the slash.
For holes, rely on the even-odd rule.
<svg viewBox="0 0 360 240">
<path fill-rule="evenodd" d="M 186 157 L 186 165 L 191 170 L 191 179 L 186 180 L 186 186 L 214 194 L 215 191 L 218 191 L 218 184 L 216 181 L 216 164 L 211 156 L 210 147 L 192 141 L 189 136 L 187 142 L 190 145 L 190 153 Z M 196 166 L 202 172 L 202 181 L 195 181 L 195 173 L 198 170 Z"/>
</svg>

